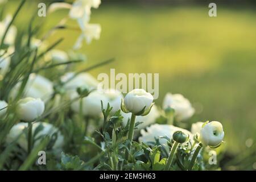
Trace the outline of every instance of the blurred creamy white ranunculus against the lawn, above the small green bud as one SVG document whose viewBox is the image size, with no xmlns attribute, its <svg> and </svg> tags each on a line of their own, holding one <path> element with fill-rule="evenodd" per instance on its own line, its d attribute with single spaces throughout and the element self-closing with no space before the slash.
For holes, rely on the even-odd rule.
<svg viewBox="0 0 256 182">
<path fill-rule="evenodd" d="M 195 109 L 187 98 L 181 94 L 167 93 L 163 101 L 163 109 L 171 107 L 175 110 L 175 118 L 177 121 L 186 120 L 195 113 Z"/>
</svg>

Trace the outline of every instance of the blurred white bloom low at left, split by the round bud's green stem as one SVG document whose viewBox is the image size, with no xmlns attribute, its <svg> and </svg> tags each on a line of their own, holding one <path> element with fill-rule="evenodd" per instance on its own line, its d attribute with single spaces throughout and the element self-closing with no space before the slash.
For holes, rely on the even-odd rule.
<svg viewBox="0 0 256 182">
<path fill-rule="evenodd" d="M 40 141 L 44 138 L 45 135 L 50 135 L 52 136 L 53 134 L 57 133 L 57 139 L 52 147 L 53 150 L 57 150 L 59 148 L 61 148 L 64 144 L 64 137 L 63 135 L 60 133 L 60 131 L 57 130 L 57 128 L 55 126 L 53 126 L 50 123 L 46 123 L 46 122 L 36 122 L 33 124 L 32 127 L 32 133 L 35 132 L 36 128 L 42 125 L 43 129 L 40 130 L 35 136 L 34 138 L 40 138 L 38 140 L 35 141 L 34 143 L 34 147 L 38 146 L 38 144 L 40 143 Z M 22 147 L 25 151 L 27 151 L 27 138 L 26 138 L 26 134 L 23 133 L 23 130 L 26 129 L 28 127 L 28 123 L 24 123 L 24 122 L 20 122 L 16 125 L 14 125 L 9 134 L 6 137 L 6 143 L 11 143 L 13 142 L 17 137 L 19 137 L 18 139 L 18 144 L 20 147 Z"/>
</svg>

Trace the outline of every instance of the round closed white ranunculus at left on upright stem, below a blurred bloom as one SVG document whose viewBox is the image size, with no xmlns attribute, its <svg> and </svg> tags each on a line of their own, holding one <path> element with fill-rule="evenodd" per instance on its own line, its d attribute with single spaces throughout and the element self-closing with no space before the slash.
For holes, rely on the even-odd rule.
<svg viewBox="0 0 256 182">
<path fill-rule="evenodd" d="M 44 102 L 40 98 L 26 97 L 18 101 L 16 113 L 23 121 L 32 122 L 44 112 Z"/>
</svg>

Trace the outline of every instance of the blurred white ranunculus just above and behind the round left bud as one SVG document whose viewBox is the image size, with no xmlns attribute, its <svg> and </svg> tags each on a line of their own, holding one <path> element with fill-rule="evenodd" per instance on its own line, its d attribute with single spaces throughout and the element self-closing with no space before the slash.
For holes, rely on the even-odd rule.
<svg viewBox="0 0 256 182">
<path fill-rule="evenodd" d="M 46 100 L 53 94 L 53 83 L 46 77 L 32 73 L 28 79 L 25 96 Z"/>
</svg>

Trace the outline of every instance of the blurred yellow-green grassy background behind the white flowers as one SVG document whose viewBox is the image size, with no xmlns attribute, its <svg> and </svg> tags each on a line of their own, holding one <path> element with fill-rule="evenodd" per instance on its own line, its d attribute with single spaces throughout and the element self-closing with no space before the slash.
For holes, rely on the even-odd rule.
<svg viewBox="0 0 256 182">
<path fill-rule="evenodd" d="M 101 24 L 101 38 L 84 43 L 79 52 L 86 54 L 88 64 L 115 57 L 114 63 L 91 72 L 96 77 L 109 74 L 110 68 L 116 73 L 159 73 L 156 104 L 162 105 L 167 92 L 184 94 L 197 110 L 191 122 L 222 122 L 226 149 L 241 154 L 250 146 L 246 140 L 256 140 L 255 4 L 217 3 L 213 18 L 208 4 L 103 1 L 92 9 L 90 20 Z M 23 19 L 31 16 L 31 6 L 23 10 Z M 65 15 L 60 10 L 47 16 L 45 27 Z M 59 30 L 48 42 L 64 37 L 58 48 L 69 50 L 79 34 Z"/>
</svg>

